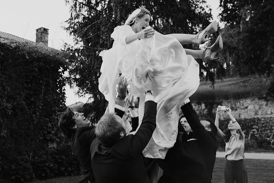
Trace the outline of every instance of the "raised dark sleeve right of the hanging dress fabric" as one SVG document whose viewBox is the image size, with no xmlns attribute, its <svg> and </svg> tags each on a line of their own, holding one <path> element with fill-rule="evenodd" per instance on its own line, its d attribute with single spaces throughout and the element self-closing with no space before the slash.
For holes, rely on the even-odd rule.
<svg viewBox="0 0 274 183">
<path fill-rule="evenodd" d="M 193 109 L 191 103 L 188 102 L 187 104 L 181 106 L 181 110 L 197 139 L 200 142 L 203 142 L 205 145 L 209 145 L 210 147 L 216 146 L 215 139 L 208 133 L 208 131 L 206 131 L 205 127 L 200 123 L 200 119 L 196 111 Z"/>
</svg>

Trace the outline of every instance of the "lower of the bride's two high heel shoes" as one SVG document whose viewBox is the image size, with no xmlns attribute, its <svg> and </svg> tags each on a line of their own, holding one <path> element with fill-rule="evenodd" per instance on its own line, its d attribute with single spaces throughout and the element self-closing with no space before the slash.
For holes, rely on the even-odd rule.
<svg viewBox="0 0 274 183">
<path fill-rule="evenodd" d="M 205 60 L 206 62 L 210 62 L 212 60 L 217 60 L 219 58 L 214 58 L 217 53 L 222 51 L 223 45 L 222 45 L 222 36 L 219 35 L 218 38 L 216 39 L 215 43 L 204 49 L 203 54 L 202 54 L 202 60 Z"/>
</svg>

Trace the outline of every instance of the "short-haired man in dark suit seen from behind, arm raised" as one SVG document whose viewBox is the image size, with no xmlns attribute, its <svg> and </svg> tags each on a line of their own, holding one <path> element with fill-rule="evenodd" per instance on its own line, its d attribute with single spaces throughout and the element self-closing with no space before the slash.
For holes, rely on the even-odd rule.
<svg viewBox="0 0 274 183">
<path fill-rule="evenodd" d="M 91 165 L 97 183 L 150 183 L 142 151 L 156 128 L 156 107 L 151 80 L 141 81 L 146 91 L 144 117 L 135 135 L 126 136 L 125 127 L 115 114 L 105 114 L 91 143 Z"/>
</svg>

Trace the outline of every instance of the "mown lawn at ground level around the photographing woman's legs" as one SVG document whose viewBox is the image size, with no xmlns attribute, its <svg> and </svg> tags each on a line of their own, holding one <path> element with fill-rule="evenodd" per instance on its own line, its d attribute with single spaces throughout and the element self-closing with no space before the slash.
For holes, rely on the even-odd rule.
<svg viewBox="0 0 274 183">
<path fill-rule="evenodd" d="M 216 158 L 212 183 L 224 182 L 225 158 Z M 273 183 L 274 182 L 274 160 L 251 160 L 245 159 L 247 176 L 249 183 Z M 33 183 L 76 183 L 80 176 L 59 177 L 45 181 L 35 181 Z"/>
</svg>

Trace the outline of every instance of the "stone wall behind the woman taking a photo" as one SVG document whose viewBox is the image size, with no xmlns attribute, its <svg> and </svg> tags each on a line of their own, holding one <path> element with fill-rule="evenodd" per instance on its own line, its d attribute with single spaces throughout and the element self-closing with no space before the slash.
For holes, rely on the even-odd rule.
<svg viewBox="0 0 274 183">
<path fill-rule="evenodd" d="M 192 102 L 200 118 L 215 120 L 217 106 L 227 106 L 244 131 L 246 147 L 274 149 L 274 101 L 266 99 L 224 100 L 207 103 Z M 225 111 L 219 115 L 219 127 L 227 128 L 230 117 Z M 218 137 L 219 145 L 225 146 Z"/>
</svg>

